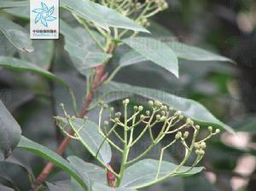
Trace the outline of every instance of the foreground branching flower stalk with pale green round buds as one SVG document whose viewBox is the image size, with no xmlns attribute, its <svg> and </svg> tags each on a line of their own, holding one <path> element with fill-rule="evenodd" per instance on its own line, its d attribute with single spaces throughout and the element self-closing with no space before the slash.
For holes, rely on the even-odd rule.
<svg viewBox="0 0 256 191">
<path fill-rule="evenodd" d="M 112 148 L 115 148 L 122 155 L 121 165 L 119 172 L 113 171 L 113 169 L 106 164 L 102 164 L 104 168 L 110 173 L 114 178 L 113 181 L 109 183 L 109 186 L 119 187 L 119 184 L 124 176 L 125 169 L 140 159 L 143 159 L 155 146 L 161 145 L 159 165 L 156 171 L 155 182 L 163 180 L 167 177 L 173 177 L 180 173 L 187 173 L 192 171 L 193 168 L 201 161 L 205 155 L 205 148 L 207 148 L 206 141 L 212 136 L 218 134 L 219 129 L 213 130 L 212 126 L 207 128 L 208 135 L 204 138 L 199 139 L 199 131 L 201 129 L 200 125 L 195 124 L 192 119 L 185 118 L 181 111 L 174 111 L 172 107 L 167 107 L 160 101 L 148 101 L 148 105 L 151 109 L 146 110 L 143 106 L 133 107 L 131 116 L 129 113 L 129 99 L 123 101 L 124 110 L 121 112 L 114 112 L 113 107 L 109 108 L 109 119 L 102 123 L 102 113 L 108 108 L 108 105 L 103 101 L 100 101 L 100 112 L 98 119 L 98 133 L 103 137 L 102 144 L 97 148 L 97 152 L 94 157 L 99 160 L 98 153 L 100 152 L 103 142 L 108 142 Z M 63 105 L 61 105 L 65 118 L 55 117 L 57 125 L 61 128 L 63 133 L 72 139 L 80 140 L 79 130 L 83 127 L 80 126 L 79 130 L 71 136 L 67 132 L 67 127 L 73 127 L 73 120 L 76 117 L 71 117 L 67 114 Z M 88 120 L 84 118 L 84 122 Z M 67 123 L 63 124 L 63 121 Z M 135 136 L 134 130 L 137 128 L 142 128 L 139 135 Z M 155 128 L 160 128 L 157 135 L 155 135 Z M 118 130 L 121 129 L 121 130 Z M 118 131 L 117 131 L 118 130 Z M 123 134 L 119 135 L 119 131 Z M 150 136 L 151 143 L 141 154 L 137 157 L 130 159 L 129 153 L 131 148 L 141 141 L 141 138 L 148 132 Z M 115 138 L 110 138 L 113 135 Z M 168 136 L 169 142 L 163 145 L 161 141 Z M 111 136 L 111 137 L 113 137 Z M 173 137 L 170 139 L 170 137 Z M 117 140 L 122 143 L 122 147 L 119 147 L 116 143 Z M 81 141 L 81 140 L 80 140 Z M 167 148 L 172 147 L 175 143 L 180 143 L 183 146 L 184 154 L 183 159 L 177 165 L 177 167 L 170 171 L 165 177 L 160 177 L 160 169 L 163 163 L 163 156 Z M 186 171 L 181 171 L 184 165 L 187 165 L 188 160 L 191 155 L 195 155 L 194 162 L 190 165 L 189 169 Z"/>
</svg>

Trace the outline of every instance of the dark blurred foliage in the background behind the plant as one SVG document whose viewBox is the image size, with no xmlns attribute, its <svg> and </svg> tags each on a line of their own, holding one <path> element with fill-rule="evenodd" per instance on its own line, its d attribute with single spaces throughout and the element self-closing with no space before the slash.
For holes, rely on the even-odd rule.
<svg viewBox="0 0 256 191">
<path fill-rule="evenodd" d="M 181 75 L 177 79 L 159 67 L 142 63 L 121 70 L 114 80 L 165 90 L 199 101 L 218 119 L 230 124 L 237 134 L 232 136 L 222 132 L 208 143 L 207 155 L 203 160 L 207 170 L 200 176 L 172 178 L 145 190 L 256 190 L 256 2 L 169 0 L 168 3 L 170 8 L 157 14 L 152 20 L 149 30 L 155 38 L 163 41 L 177 39 L 210 49 L 230 57 L 237 64 L 181 61 Z M 8 9 L 5 14 L 23 26 L 28 23 L 26 18 L 22 18 L 22 11 Z M 18 14 L 19 17 L 13 14 Z M 70 24 L 77 25 L 70 14 L 65 11 L 61 11 L 61 14 Z M 38 60 L 32 62 L 55 72 L 68 84 L 72 84 L 80 107 L 85 90 L 84 78 L 73 68 L 67 52 L 63 49 L 62 37 L 59 41 L 34 41 L 33 46 L 41 46 L 41 53 L 44 51 L 44 54 L 28 58 L 24 53 L 15 52 L 2 34 L 0 42 L 1 55 L 37 58 Z M 125 49 L 117 49 L 118 54 L 111 61 L 109 70 L 116 64 L 118 55 L 124 52 Z M 65 102 L 68 107 L 69 96 L 66 90 L 32 73 L 18 73 L 6 69 L 0 70 L 0 88 L 0 98 L 15 115 L 15 119 L 18 119 L 23 134 L 55 149 L 62 135 L 55 128 L 52 116 L 60 112 L 60 102 Z M 140 102 L 139 97 L 135 98 L 134 104 Z M 118 103 L 113 104 L 119 107 Z M 96 118 L 95 112 L 89 115 Z M 178 148 L 170 150 L 169 157 L 173 160 L 178 158 L 175 154 L 177 151 Z M 68 154 L 90 159 L 79 142 L 71 142 L 67 149 Z M 151 154 L 153 157 L 158 156 L 154 152 Z M 28 190 L 29 180 L 38 175 L 45 163 L 43 159 L 17 150 L 12 159 L 0 165 L 0 182 L 13 188 Z M 24 178 L 27 175 L 28 178 Z M 65 178 L 67 174 L 55 168 L 49 181 Z M 5 189 L 0 187 L 0 190 Z"/>
</svg>

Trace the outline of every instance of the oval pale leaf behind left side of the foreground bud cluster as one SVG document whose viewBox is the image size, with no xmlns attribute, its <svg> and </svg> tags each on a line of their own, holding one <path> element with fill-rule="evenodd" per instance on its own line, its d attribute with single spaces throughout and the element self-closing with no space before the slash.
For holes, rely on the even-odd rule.
<svg viewBox="0 0 256 191">
<path fill-rule="evenodd" d="M 67 123 L 67 120 L 62 119 L 59 123 Z M 93 156 L 96 156 L 96 153 L 98 153 L 97 159 L 102 164 L 107 165 L 112 158 L 112 152 L 108 142 L 103 142 L 104 138 L 99 134 L 97 124 L 88 119 L 84 120 L 79 118 L 73 119 L 72 124 L 73 130 L 76 135 L 79 136 L 79 141 L 84 147 L 87 148 Z"/>
</svg>

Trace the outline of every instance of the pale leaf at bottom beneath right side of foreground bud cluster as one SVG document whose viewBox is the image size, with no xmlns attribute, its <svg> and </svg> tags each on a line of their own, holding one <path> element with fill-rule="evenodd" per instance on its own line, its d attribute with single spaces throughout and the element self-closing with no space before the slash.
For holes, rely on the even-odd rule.
<svg viewBox="0 0 256 191">
<path fill-rule="evenodd" d="M 158 179 L 155 179 L 158 171 L 159 160 L 143 159 L 134 165 L 129 166 L 124 173 L 124 177 L 120 183 L 120 187 L 124 188 L 143 188 L 160 182 L 167 177 L 189 177 L 201 172 L 203 167 L 195 167 L 191 171 L 189 166 L 181 167 L 176 173 L 170 176 L 172 171 L 175 171 L 177 165 L 162 161 L 160 174 Z"/>
</svg>

